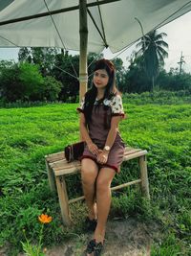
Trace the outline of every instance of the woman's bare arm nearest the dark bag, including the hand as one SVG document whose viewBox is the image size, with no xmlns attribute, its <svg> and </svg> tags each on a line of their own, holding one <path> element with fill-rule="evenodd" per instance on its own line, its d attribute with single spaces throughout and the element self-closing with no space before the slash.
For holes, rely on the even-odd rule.
<svg viewBox="0 0 191 256">
<path fill-rule="evenodd" d="M 93 143 L 93 141 L 89 135 L 85 116 L 82 112 L 80 113 L 79 129 L 80 129 L 80 135 L 81 135 L 82 139 L 86 142 L 88 149 L 97 155 L 99 153 L 99 150 L 98 150 L 96 144 Z"/>
</svg>

